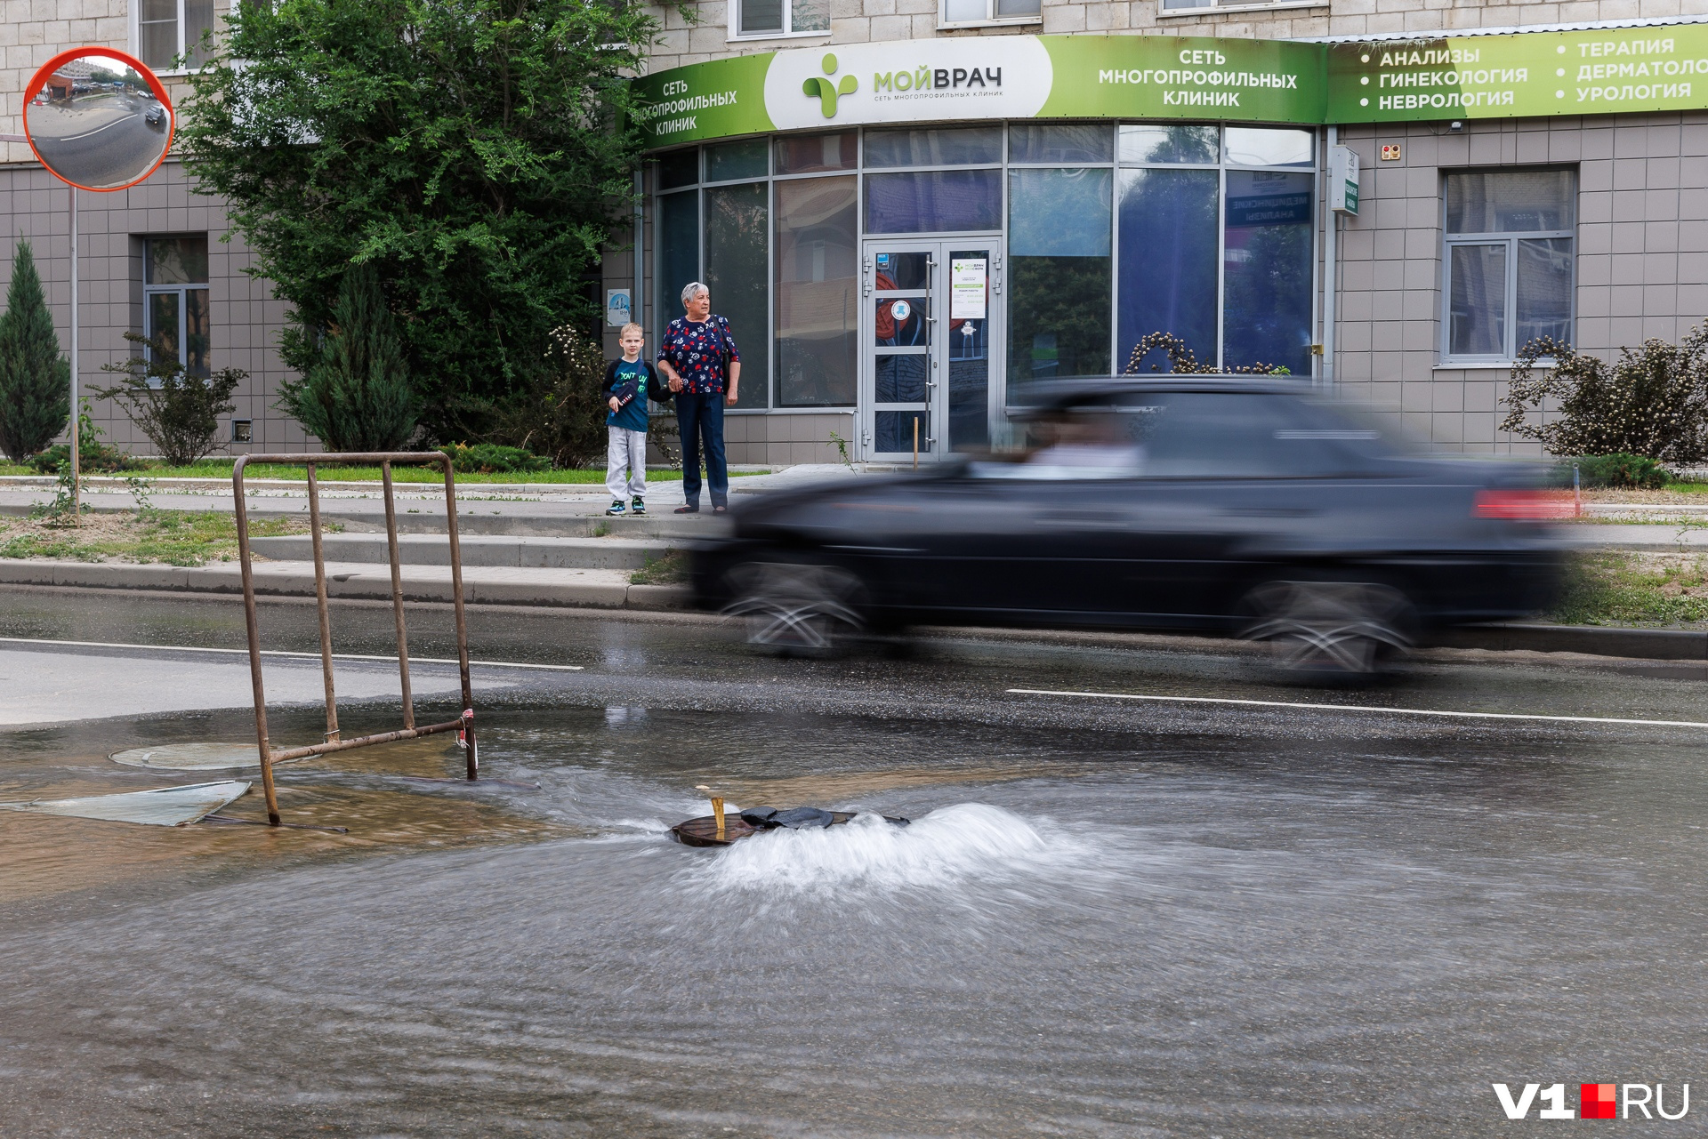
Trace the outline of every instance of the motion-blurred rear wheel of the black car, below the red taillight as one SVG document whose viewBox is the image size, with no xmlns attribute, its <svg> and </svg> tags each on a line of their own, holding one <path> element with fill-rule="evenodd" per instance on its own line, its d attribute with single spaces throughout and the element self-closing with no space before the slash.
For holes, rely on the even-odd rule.
<svg viewBox="0 0 1708 1139">
<path fill-rule="evenodd" d="M 1271 581 L 1245 596 L 1240 635 L 1290 673 L 1368 676 L 1413 645 L 1406 594 L 1368 581 Z"/>
</svg>

